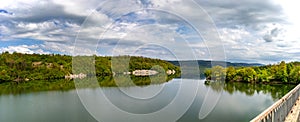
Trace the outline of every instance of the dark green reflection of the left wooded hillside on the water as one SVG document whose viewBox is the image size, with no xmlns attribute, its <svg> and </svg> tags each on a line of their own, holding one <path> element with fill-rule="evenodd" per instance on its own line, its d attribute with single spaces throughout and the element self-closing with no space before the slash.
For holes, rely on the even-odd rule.
<svg viewBox="0 0 300 122">
<path fill-rule="evenodd" d="M 85 78 L 76 80 L 76 85 L 80 85 L 81 88 L 98 88 L 101 87 L 130 87 L 130 86 L 148 86 L 150 84 L 163 84 L 172 80 L 175 75 L 155 75 L 150 77 L 136 77 L 129 75 L 118 75 L 115 77 L 105 76 L 97 77 L 99 84 L 92 84 L 88 82 L 92 78 Z M 116 84 L 118 81 L 118 85 Z M 16 84 L 14 82 L 6 82 L 0 84 L 0 95 L 1 94 L 21 94 L 30 92 L 41 92 L 41 91 L 68 91 L 75 89 L 73 80 L 58 79 L 58 80 L 36 80 L 30 82 L 22 82 Z"/>
</svg>

